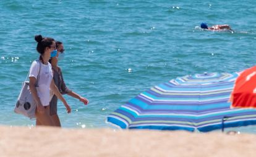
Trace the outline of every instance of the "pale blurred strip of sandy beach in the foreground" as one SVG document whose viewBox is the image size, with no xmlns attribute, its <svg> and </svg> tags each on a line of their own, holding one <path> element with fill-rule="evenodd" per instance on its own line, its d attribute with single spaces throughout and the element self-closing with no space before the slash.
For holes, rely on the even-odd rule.
<svg viewBox="0 0 256 157">
<path fill-rule="evenodd" d="M 255 156 L 256 135 L 0 127 L 4 156 Z"/>
</svg>

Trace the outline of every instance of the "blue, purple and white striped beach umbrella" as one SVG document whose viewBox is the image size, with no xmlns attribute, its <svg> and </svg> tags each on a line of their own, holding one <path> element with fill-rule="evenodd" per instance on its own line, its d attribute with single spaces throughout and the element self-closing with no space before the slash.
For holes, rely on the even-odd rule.
<svg viewBox="0 0 256 157">
<path fill-rule="evenodd" d="M 238 74 L 178 77 L 129 100 L 106 121 L 122 129 L 208 132 L 256 124 L 255 109 L 231 109 L 228 102 Z"/>
</svg>

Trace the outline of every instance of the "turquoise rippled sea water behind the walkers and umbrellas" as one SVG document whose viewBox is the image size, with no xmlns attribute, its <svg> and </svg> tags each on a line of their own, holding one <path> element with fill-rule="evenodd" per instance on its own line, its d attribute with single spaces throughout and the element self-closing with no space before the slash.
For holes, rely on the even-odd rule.
<svg viewBox="0 0 256 157">
<path fill-rule="evenodd" d="M 237 72 L 256 64 L 256 1 L 0 1 L 0 125 L 33 127 L 13 109 L 30 64 L 34 36 L 62 41 L 67 86 L 65 128 L 102 128 L 106 116 L 154 85 L 188 74 Z M 229 24 L 231 32 L 199 28 Z M 241 132 L 256 134 L 256 127 Z"/>
</svg>

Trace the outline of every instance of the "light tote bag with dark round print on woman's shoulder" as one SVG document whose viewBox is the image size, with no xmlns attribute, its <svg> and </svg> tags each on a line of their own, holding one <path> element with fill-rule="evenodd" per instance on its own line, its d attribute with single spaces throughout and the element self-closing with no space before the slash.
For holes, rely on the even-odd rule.
<svg viewBox="0 0 256 157">
<path fill-rule="evenodd" d="M 36 60 L 36 62 L 38 62 L 38 64 L 40 65 L 39 60 Z M 36 77 L 36 87 L 38 87 L 39 75 L 40 75 L 40 66 L 38 70 L 38 75 Z M 25 82 L 22 83 L 22 90 L 20 91 L 20 95 L 15 105 L 14 112 L 17 114 L 23 114 L 23 116 L 29 117 L 30 119 L 34 119 L 36 102 L 30 91 L 29 82 L 27 81 L 27 79 L 28 79 L 28 75 Z"/>
</svg>

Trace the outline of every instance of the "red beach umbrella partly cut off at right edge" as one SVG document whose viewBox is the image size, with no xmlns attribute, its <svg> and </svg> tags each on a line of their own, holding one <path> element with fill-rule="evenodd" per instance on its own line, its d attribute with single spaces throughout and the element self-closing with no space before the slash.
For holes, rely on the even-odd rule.
<svg viewBox="0 0 256 157">
<path fill-rule="evenodd" d="M 256 66 L 245 69 L 234 84 L 231 108 L 256 108 Z"/>
</svg>

